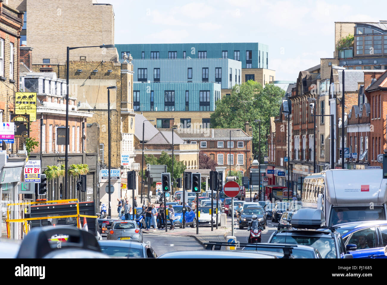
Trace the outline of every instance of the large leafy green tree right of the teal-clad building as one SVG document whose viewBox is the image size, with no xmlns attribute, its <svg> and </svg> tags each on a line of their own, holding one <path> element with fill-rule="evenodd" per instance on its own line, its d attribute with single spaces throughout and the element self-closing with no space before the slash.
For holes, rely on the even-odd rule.
<svg viewBox="0 0 387 285">
<path fill-rule="evenodd" d="M 248 121 L 253 128 L 253 154 L 258 155 L 259 123 L 261 121 L 261 163 L 264 161 L 267 131 L 270 117 L 279 115 L 279 108 L 285 91 L 273 84 L 265 88 L 258 82 L 249 80 L 242 85 L 235 85 L 230 96 L 224 96 L 216 102 L 216 109 L 211 114 L 213 128 L 241 128 L 245 130 Z"/>
</svg>

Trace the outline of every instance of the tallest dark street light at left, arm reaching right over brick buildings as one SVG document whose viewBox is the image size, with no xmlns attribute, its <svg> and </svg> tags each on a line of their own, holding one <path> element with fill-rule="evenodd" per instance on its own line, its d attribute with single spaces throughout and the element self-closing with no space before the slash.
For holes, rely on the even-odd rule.
<svg viewBox="0 0 387 285">
<path fill-rule="evenodd" d="M 67 47 L 67 62 L 66 62 L 66 86 L 67 86 L 67 92 L 66 92 L 66 151 L 65 151 L 65 199 L 67 199 L 67 169 L 68 169 L 68 147 L 70 144 L 70 138 L 67 134 L 70 133 L 68 130 L 68 69 L 70 66 L 69 58 L 70 58 L 70 50 L 75 50 L 77 48 L 91 48 L 91 47 L 99 47 L 99 48 L 107 48 L 109 50 L 114 49 L 114 45 L 93 45 L 90 47 Z M 109 173 L 110 175 L 110 173 Z M 110 189 L 109 189 L 110 190 Z M 110 205 L 109 205 L 110 207 Z"/>
</svg>

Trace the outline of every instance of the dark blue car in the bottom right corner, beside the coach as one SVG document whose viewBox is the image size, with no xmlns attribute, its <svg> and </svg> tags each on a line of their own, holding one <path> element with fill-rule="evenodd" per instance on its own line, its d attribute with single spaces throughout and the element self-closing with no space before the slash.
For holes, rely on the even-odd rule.
<svg viewBox="0 0 387 285">
<path fill-rule="evenodd" d="M 387 258 L 387 221 L 361 221 L 336 225 L 344 245 L 356 245 L 353 258 Z"/>
</svg>

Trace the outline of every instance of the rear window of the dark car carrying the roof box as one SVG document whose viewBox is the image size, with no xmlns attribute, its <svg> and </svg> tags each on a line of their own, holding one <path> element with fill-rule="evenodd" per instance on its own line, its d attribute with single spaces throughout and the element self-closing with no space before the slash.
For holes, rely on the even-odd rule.
<svg viewBox="0 0 387 285">
<path fill-rule="evenodd" d="M 303 237 L 295 235 L 276 235 L 271 244 L 309 245 L 320 252 L 322 258 L 336 258 L 336 247 L 332 237 Z"/>
</svg>

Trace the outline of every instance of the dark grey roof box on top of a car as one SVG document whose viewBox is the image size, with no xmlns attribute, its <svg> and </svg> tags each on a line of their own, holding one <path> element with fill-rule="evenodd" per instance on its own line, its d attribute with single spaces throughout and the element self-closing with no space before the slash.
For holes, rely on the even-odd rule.
<svg viewBox="0 0 387 285">
<path fill-rule="evenodd" d="M 319 209 L 300 209 L 290 223 L 294 228 L 318 229 L 325 224 L 325 216 Z"/>
</svg>

